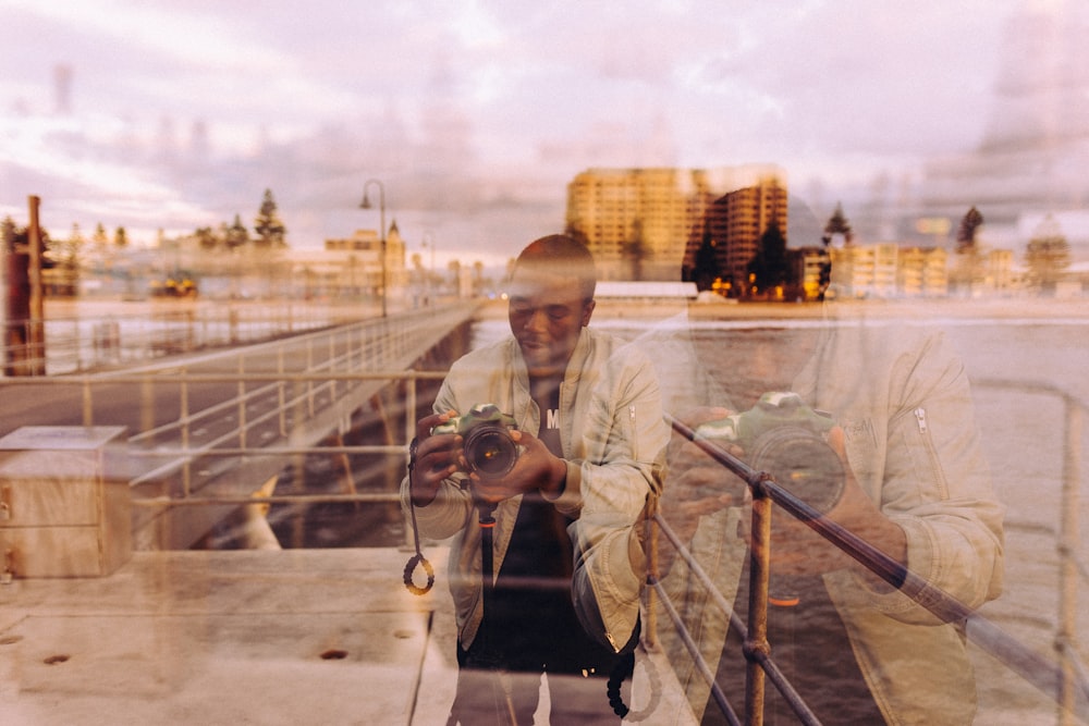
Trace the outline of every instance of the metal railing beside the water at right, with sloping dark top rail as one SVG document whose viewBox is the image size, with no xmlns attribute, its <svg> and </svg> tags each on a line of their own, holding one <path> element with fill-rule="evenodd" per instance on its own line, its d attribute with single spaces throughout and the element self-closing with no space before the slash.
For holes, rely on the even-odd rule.
<svg viewBox="0 0 1089 726">
<path fill-rule="evenodd" d="M 714 670 L 701 656 L 698 645 L 682 620 L 676 606 L 658 580 L 656 574 L 657 553 L 650 557 L 648 582 L 677 630 L 681 642 L 686 647 L 696 669 L 710 687 L 711 699 L 731 724 L 758 725 L 763 723 L 766 679 L 770 679 L 783 696 L 785 703 L 797 715 L 799 723 L 819 724 L 819 719 L 784 677 L 772 657 L 772 643 L 768 641 L 768 595 L 771 577 L 771 507 L 779 505 L 786 514 L 802 520 L 833 545 L 851 555 L 871 573 L 890 586 L 911 598 L 942 622 L 964 623 L 969 642 L 994 656 L 1005 667 L 1035 686 L 1041 693 L 1052 698 L 1056 704 L 1056 723 L 1070 724 L 1075 718 L 1089 721 L 1089 677 L 1085 664 L 1075 648 L 1077 587 L 1080 580 L 1089 580 L 1085 564 L 1077 557 L 1080 542 L 1078 516 L 1080 510 L 1080 471 L 1082 419 L 1089 405 L 1065 391 L 1047 383 L 1024 381 L 984 380 L 974 382 L 976 387 L 991 387 L 1002 391 L 1019 391 L 1055 396 L 1064 404 L 1064 460 L 1062 485 L 1062 516 L 1057 533 L 1060 556 L 1060 604 L 1054 650 L 1057 662 L 1052 662 L 1027 648 L 991 620 L 972 611 L 952 595 L 933 587 L 926 579 L 873 547 L 861 538 L 828 519 L 791 492 L 780 487 L 767 472 L 757 471 L 736 456 L 699 438 L 695 431 L 677 419 L 666 416 L 668 422 L 682 436 L 688 439 L 712 459 L 739 477 L 752 494 L 750 587 L 748 600 L 748 623 L 742 623 L 734 613 L 733 604 L 722 595 L 709 575 L 693 554 L 673 532 L 661 514 L 652 518 L 656 531 L 651 541 L 657 546 L 661 532 L 676 549 L 688 565 L 693 576 L 706 589 L 712 603 L 730 620 L 730 628 L 739 637 L 746 659 L 745 719 L 742 722 L 722 690 L 715 684 Z M 651 627 L 651 630 L 653 628 Z"/>
</svg>

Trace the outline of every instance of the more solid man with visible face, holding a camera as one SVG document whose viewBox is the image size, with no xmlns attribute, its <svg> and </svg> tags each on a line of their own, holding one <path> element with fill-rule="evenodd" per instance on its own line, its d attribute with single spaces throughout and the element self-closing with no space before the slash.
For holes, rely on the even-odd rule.
<svg viewBox="0 0 1089 726">
<path fill-rule="evenodd" d="M 669 432 L 650 362 L 587 328 L 595 286 L 592 257 L 575 239 L 552 235 L 527 246 L 511 279 L 512 337 L 456 361 L 435 414 L 417 423 L 402 502 L 415 508 L 421 534 L 454 538 L 450 587 L 463 677 L 452 722 L 504 723 L 510 714 L 531 724 L 542 673 L 552 723 L 616 722 L 604 677 L 633 632 L 604 648 L 583 631 L 566 530 L 584 512 L 634 522 L 659 489 Z M 521 454 L 499 478 L 470 471 L 462 435 L 431 433 L 484 404 L 517 426 L 511 438 Z M 488 514 L 494 526 L 482 528 Z M 481 552 L 488 540 L 492 550 Z M 493 589 L 482 587 L 487 559 Z M 490 675 L 470 686 L 475 669 L 502 672 L 501 688 L 491 688 Z"/>
</svg>

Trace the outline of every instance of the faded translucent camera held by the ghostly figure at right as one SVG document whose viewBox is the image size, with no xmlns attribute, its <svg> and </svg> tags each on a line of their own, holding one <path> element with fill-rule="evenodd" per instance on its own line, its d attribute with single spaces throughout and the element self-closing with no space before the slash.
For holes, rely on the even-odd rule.
<svg viewBox="0 0 1089 726">
<path fill-rule="evenodd" d="M 843 494 L 843 464 L 827 442 L 834 426 L 798 394 L 771 392 L 743 414 L 702 423 L 696 435 L 739 446 L 746 464 L 824 514 Z"/>
</svg>

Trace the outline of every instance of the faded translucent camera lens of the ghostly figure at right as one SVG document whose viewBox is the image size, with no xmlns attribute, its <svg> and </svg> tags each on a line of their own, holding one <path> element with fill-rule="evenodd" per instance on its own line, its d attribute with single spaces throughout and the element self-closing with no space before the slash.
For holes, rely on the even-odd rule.
<svg viewBox="0 0 1089 726">
<path fill-rule="evenodd" d="M 785 490 L 825 514 L 843 493 L 843 464 L 812 432 L 797 427 L 772 429 L 752 447 L 750 466 L 767 471 Z"/>
</svg>

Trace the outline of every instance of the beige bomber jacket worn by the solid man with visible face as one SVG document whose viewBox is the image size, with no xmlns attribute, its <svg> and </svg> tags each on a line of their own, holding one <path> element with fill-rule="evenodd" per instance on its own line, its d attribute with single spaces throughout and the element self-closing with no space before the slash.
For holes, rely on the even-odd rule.
<svg viewBox="0 0 1089 726">
<path fill-rule="evenodd" d="M 526 365 L 513 337 L 458 359 L 443 381 L 433 410 L 465 413 L 487 403 L 512 415 L 519 429 L 536 434 L 540 428 L 540 411 L 530 397 Z M 648 495 L 660 491 L 669 441 L 658 379 L 647 356 L 613 335 L 584 328 L 560 387 L 560 426 L 567 478 L 563 493 L 554 501 L 556 509 L 572 518 L 587 510 L 608 512 L 613 521 L 620 517 L 628 526 L 634 524 Z M 436 500 L 415 507 L 415 515 L 421 536 L 453 538 L 448 577 L 458 638 L 468 648 L 482 607 L 480 528 L 470 495 L 463 489 L 464 480 L 464 475 L 445 480 Z M 401 501 L 407 512 L 407 477 L 401 484 Z M 521 501 L 516 496 L 501 502 L 494 513 L 497 574 Z M 626 559 L 626 549 L 624 553 Z M 585 580 L 582 585 L 589 587 Z M 573 594 L 580 596 L 577 590 Z M 621 637 L 629 635 L 631 630 Z"/>
</svg>

